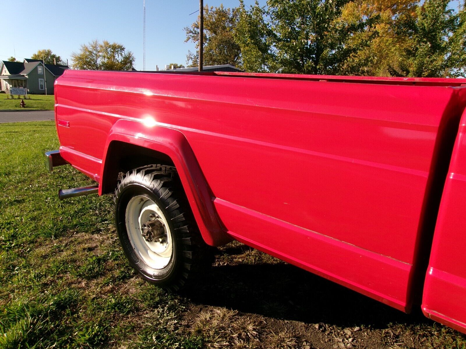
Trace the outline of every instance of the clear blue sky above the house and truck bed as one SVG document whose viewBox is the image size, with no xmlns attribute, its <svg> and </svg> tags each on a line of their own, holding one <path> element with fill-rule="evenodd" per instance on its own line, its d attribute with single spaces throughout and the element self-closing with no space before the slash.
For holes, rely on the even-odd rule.
<svg viewBox="0 0 466 349">
<path fill-rule="evenodd" d="M 253 2 L 245 0 L 246 5 Z M 239 1 L 206 3 L 236 7 Z M 135 55 L 135 68 L 143 68 L 143 0 L 2 1 L 2 9 L 0 60 L 10 56 L 22 60 L 50 48 L 71 64 L 73 51 L 98 39 L 123 44 Z M 146 70 L 169 63 L 186 65 L 186 54 L 194 45 L 184 42 L 183 28 L 196 20 L 197 13 L 189 14 L 197 9 L 198 0 L 146 0 Z"/>
</svg>

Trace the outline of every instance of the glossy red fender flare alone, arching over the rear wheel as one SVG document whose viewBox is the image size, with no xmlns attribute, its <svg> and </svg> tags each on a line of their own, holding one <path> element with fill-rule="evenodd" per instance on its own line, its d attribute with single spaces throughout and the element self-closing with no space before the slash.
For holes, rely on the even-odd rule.
<svg viewBox="0 0 466 349">
<path fill-rule="evenodd" d="M 109 181 L 109 178 L 106 178 L 106 174 L 109 173 L 107 167 L 112 166 L 111 158 L 114 154 L 109 154 L 108 150 L 114 141 L 148 148 L 169 156 L 178 170 L 204 241 L 211 246 L 219 246 L 231 241 L 219 223 L 211 192 L 192 148 L 185 136 L 178 130 L 148 125 L 141 121 L 118 120 L 111 128 L 105 144 L 99 195 L 103 194 L 105 181 Z"/>
</svg>

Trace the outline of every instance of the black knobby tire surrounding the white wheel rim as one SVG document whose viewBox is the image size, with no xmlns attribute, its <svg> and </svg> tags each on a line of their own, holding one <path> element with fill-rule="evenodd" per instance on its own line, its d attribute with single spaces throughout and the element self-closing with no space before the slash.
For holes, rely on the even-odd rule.
<svg viewBox="0 0 466 349">
<path fill-rule="evenodd" d="M 134 196 L 146 196 L 164 213 L 172 235 L 171 260 L 164 268 L 147 265 L 131 244 L 126 208 Z M 115 223 L 124 254 L 141 277 L 168 291 L 178 291 L 212 263 L 212 249 L 202 239 L 194 221 L 176 168 L 148 165 L 121 176 L 115 191 Z"/>
</svg>

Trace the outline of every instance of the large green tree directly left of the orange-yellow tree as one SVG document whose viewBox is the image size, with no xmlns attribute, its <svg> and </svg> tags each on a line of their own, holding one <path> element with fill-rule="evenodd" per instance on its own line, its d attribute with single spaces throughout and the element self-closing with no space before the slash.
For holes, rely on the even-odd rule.
<svg viewBox="0 0 466 349">
<path fill-rule="evenodd" d="M 269 0 L 267 15 L 274 32 L 273 46 L 281 72 L 342 74 L 346 60 L 359 47 L 347 45 L 366 22 L 336 20 L 349 0 Z"/>
</svg>

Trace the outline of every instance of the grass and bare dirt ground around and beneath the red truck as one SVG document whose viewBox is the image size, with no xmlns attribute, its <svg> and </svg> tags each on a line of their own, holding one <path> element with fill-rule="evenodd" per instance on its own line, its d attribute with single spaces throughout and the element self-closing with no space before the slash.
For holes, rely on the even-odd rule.
<svg viewBox="0 0 466 349">
<path fill-rule="evenodd" d="M 465 336 L 233 242 L 172 295 L 128 266 L 112 197 L 47 172 L 53 121 L 0 125 L 0 348 L 465 348 Z"/>
</svg>

